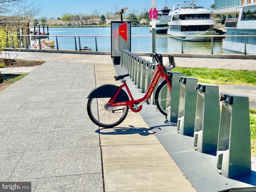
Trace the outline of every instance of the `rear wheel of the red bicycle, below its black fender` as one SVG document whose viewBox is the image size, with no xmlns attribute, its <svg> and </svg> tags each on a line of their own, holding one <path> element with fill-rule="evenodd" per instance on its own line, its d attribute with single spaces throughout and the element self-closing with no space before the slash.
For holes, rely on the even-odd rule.
<svg viewBox="0 0 256 192">
<path fill-rule="evenodd" d="M 87 112 L 94 124 L 112 128 L 124 121 L 128 114 L 128 106 L 113 107 L 107 110 L 108 101 L 110 98 L 89 98 L 87 103 Z"/>
</svg>

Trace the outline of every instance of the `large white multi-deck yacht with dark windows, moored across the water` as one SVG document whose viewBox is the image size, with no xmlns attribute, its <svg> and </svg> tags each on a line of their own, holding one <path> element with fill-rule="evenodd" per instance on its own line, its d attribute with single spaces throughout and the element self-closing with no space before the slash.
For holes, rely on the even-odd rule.
<svg viewBox="0 0 256 192">
<path fill-rule="evenodd" d="M 172 12 L 169 13 L 168 31 L 171 36 L 190 36 L 198 35 L 197 37 L 185 37 L 183 40 L 198 41 L 209 40 L 210 37 L 201 35 L 215 35 L 214 19 L 210 18 L 212 11 L 204 7 L 197 6 L 192 2 L 174 4 Z M 180 37 L 175 37 L 181 39 Z"/>
</svg>

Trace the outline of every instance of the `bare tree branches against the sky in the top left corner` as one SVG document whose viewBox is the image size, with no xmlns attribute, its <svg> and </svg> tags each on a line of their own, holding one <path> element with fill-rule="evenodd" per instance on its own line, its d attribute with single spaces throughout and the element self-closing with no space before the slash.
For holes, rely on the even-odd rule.
<svg viewBox="0 0 256 192">
<path fill-rule="evenodd" d="M 26 0 L 0 0 L 0 15 L 9 16 L 8 20 L 17 17 L 32 18 L 41 12 L 41 7 L 27 4 Z"/>
</svg>

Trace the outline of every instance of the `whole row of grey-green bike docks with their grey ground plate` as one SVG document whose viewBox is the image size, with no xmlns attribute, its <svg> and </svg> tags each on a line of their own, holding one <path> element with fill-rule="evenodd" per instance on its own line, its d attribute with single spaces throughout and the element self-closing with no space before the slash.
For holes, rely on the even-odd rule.
<svg viewBox="0 0 256 192">
<path fill-rule="evenodd" d="M 125 60 L 124 70 L 129 65 Z M 140 78 L 135 84 L 145 93 L 154 63 L 140 59 L 136 65 Z M 133 67 L 130 65 L 131 70 Z M 224 96 L 220 100 L 218 86 L 170 73 L 172 97 L 166 104 L 166 119 L 155 105 L 144 105 L 145 111 L 140 112 L 144 121 L 198 192 L 232 192 L 230 189 L 234 188 L 256 191 L 256 162 L 250 158 L 248 98 L 245 101 L 246 97 L 225 94 L 233 98 L 232 104 L 225 104 Z"/>
</svg>

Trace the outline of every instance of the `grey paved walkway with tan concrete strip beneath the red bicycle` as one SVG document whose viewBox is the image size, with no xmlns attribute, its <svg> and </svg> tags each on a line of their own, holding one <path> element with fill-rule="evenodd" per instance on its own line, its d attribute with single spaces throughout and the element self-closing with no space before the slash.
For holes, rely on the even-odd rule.
<svg viewBox="0 0 256 192">
<path fill-rule="evenodd" d="M 35 192 L 196 191 L 140 114 L 100 130 L 88 118 L 89 92 L 119 83 L 109 55 L 18 58 L 47 62 L 0 92 L 0 182 L 30 181 Z"/>
</svg>

